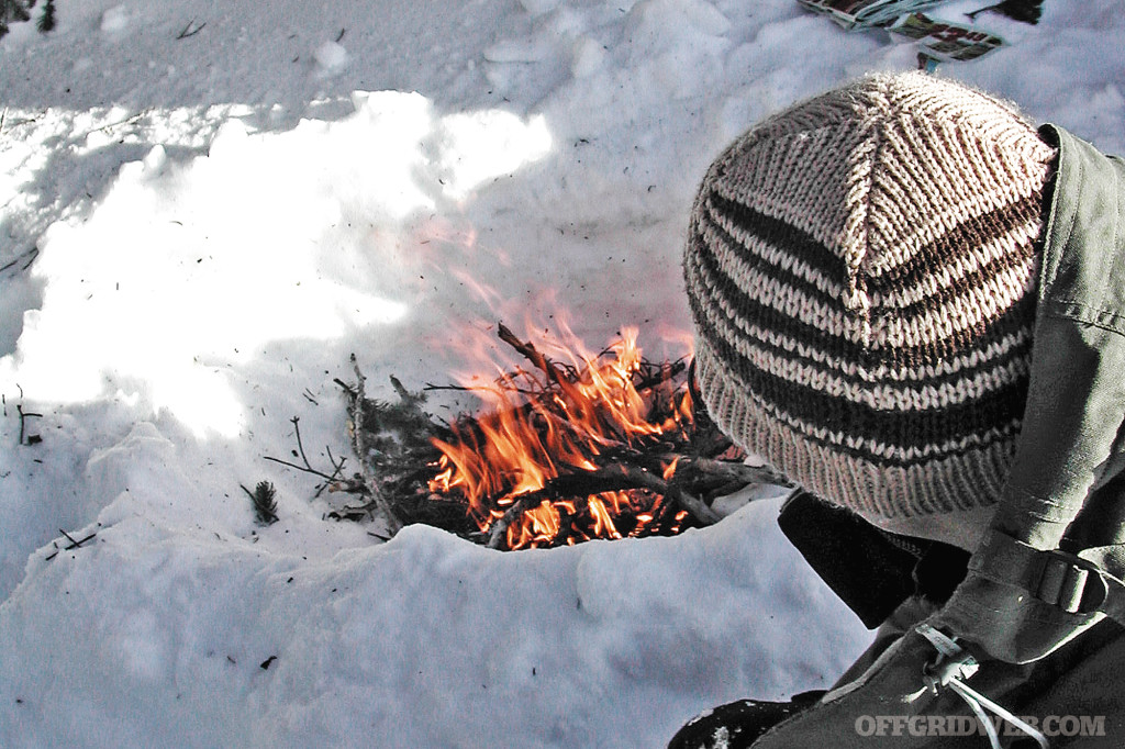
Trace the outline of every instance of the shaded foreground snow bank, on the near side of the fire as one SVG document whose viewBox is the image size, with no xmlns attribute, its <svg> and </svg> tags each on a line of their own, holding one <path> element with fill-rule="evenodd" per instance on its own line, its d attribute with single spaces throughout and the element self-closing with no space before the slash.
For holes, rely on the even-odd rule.
<svg viewBox="0 0 1125 749">
<path fill-rule="evenodd" d="M 853 647 L 840 612 L 801 613 L 834 604 L 788 574 L 773 507 L 533 553 L 413 526 L 306 559 L 284 523 L 228 535 L 161 504 L 129 491 L 96 543 L 33 557 L 0 610 L 3 746 L 654 746 L 685 700 L 822 685 Z"/>
</svg>

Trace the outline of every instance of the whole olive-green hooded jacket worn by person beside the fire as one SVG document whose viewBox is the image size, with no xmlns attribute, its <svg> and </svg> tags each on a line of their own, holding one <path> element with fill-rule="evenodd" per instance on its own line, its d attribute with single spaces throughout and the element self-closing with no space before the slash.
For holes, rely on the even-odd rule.
<svg viewBox="0 0 1125 749">
<path fill-rule="evenodd" d="M 1041 133 L 1059 163 L 1030 390 L 990 532 L 940 608 L 908 599 L 832 691 L 754 749 L 1008 746 L 1020 715 L 1091 729 L 1043 731 L 1042 747 L 1122 746 L 1125 162 Z"/>
</svg>

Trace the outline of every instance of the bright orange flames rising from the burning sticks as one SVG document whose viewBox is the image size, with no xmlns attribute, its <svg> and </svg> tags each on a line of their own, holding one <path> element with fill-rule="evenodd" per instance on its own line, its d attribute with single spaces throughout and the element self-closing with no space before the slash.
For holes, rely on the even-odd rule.
<svg viewBox="0 0 1125 749">
<path fill-rule="evenodd" d="M 489 386 L 471 378 L 466 387 L 492 409 L 454 424 L 452 439 L 433 440 L 442 454 L 430 490 L 464 496 L 482 531 L 489 531 L 523 495 L 543 490 L 559 477 L 597 470 L 604 451 L 691 426 L 691 397 L 684 385 L 673 382 L 669 366 L 655 381 L 639 381 L 644 359 L 636 328 L 623 330 L 602 354 L 591 354 L 561 327 L 564 340 L 538 336 L 534 351 L 558 362 L 551 364 L 554 371 L 566 377 L 519 369 L 502 372 Z M 665 468 L 665 478 L 674 470 L 675 461 Z M 619 539 L 626 514 L 632 523 L 629 535 L 638 535 L 655 520 L 662 499 L 642 489 L 544 496 L 507 525 L 507 548 Z M 683 517 L 681 513 L 675 520 Z"/>
</svg>

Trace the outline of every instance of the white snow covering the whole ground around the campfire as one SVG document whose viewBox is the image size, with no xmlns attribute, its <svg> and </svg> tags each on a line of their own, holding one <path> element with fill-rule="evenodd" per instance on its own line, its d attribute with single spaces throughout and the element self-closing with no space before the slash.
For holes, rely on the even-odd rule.
<svg viewBox="0 0 1125 749">
<path fill-rule="evenodd" d="M 984 13 L 1014 44 L 942 72 L 1123 152 L 1120 10 Z M 416 526 L 382 543 L 264 457 L 290 455 L 292 417 L 314 461 L 348 454 L 351 352 L 389 397 L 389 374 L 449 381 L 495 321 L 565 308 L 592 345 L 639 324 L 677 355 L 713 155 L 915 47 L 793 0 L 57 19 L 0 40 L 0 746 L 662 746 L 865 646 L 776 499 L 504 554 Z M 20 410 L 42 442 L 19 444 Z M 266 529 L 240 488 L 259 480 Z"/>
</svg>

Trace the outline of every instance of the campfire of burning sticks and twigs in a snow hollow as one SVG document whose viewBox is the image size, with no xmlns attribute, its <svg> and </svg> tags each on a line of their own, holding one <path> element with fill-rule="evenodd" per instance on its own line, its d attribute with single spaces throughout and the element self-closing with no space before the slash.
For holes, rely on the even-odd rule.
<svg viewBox="0 0 1125 749">
<path fill-rule="evenodd" d="M 718 521 L 716 497 L 783 482 L 745 464 L 706 417 L 688 355 L 649 361 L 634 328 L 596 354 L 568 330 L 533 342 L 500 324 L 497 335 L 524 363 L 426 386 L 480 399 L 452 423 L 433 419 L 425 391 L 394 378 L 394 404 L 364 396 L 358 366 L 357 385 L 336 380 L 361 472 L 332 488 L 364 496 L 339 516 L 378 513 L 392 533 L 428 523 L 513 550 L 669 535 Z"/>
</svg>

